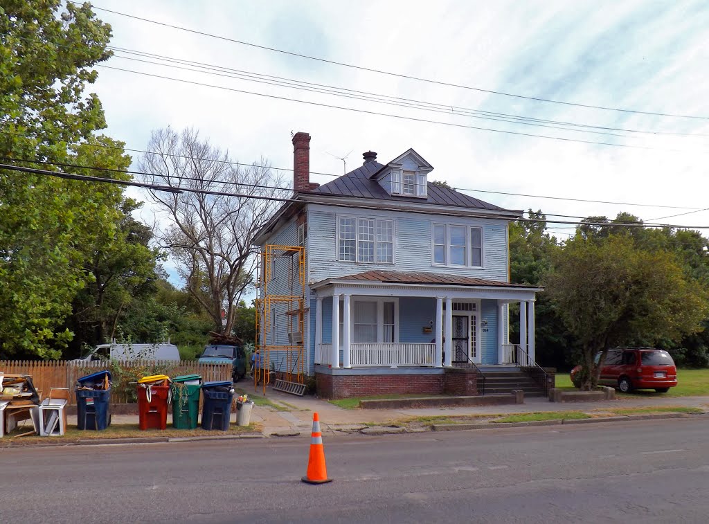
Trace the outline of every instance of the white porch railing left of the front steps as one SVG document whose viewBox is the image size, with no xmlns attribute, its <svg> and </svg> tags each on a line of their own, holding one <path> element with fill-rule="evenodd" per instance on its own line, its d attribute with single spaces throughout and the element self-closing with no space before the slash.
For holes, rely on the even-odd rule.
<svg viewBox="0 0 709 524">
<path fill-rule="evenodd" d="M 415 342 L 354 342 L 350 344 L 350 365 L 367 366 L 434 366 L 435 344 Z M 333 345 L 320 344 L 315 363 L 332 363 Z"/>
</svg>

